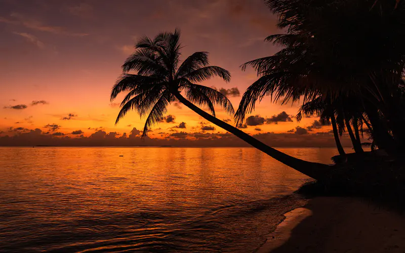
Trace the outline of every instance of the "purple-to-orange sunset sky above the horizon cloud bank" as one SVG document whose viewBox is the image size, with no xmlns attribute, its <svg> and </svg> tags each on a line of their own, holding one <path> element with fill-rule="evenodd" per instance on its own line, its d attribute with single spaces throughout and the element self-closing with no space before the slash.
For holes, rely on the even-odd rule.
<svg viewBox="0 0 405 253">
<path fill-rule="evenodd" d="M 280 31 L 275 26 L 276 16 L 262 0 L 0 0 L 0 6 L 3 137 L 35 133 L 57 143 L 56 138 L 139 135 L 144 120 L 135 112 L 114 125 L 119 111 L 116 103 L 122 97 L 111 103 L 109 94 L 121 73 L 120 66 L 144 34 L 154 36 L 180 28 L 184 58 L 208 51 L 212 65 L 231 72 L 230 83 L 213 79 L 201 84 L 237 88 L 240 95 L 257 76 L 252 69 L 243 72 L 239 66 L 278 50 L 263 41 Z M 229 95 L 235 108 L 240 95 Z M 333 146 L 333 136 L 328 133 L 331 128 L 314 123 L 317 118 L 297 122 L 297 110 L 297 105 L 281 106 L 264 99 L 252 114 L 258 117 L 250 118 L 244 131 L 290 138 L 297 145 L 323 138 L 319 145 Z M 204 139 L 201 145 L 210 145 L 207 139 L 220 139 L 225 133 L 181 104 L 171 105 L 168 115 L 174 117 L 156 125 L 149 133 L 151 138 Z M 232 119 L 220 110 L 217 117 Z M 279 145 L 282 142 L 275 146 Z"/>
</svg>

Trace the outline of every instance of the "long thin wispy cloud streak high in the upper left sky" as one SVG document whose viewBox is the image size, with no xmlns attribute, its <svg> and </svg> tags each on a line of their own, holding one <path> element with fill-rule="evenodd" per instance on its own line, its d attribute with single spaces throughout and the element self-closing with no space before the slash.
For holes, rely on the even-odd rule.
<svg viewBox="0 0 405 253">
<path fill-rule="evenodd" d="M 88 35 L 88 33 L 69 32 L 69 31 L 66 31 L 65 28 L 60 27 L 60 26 L 46 25 L 46 24 L 43 24 L 41 21 L 27 18 L 24 15 L 19 14 L 19 13 L 12 13 L 10 16 L 13 17 L 14 20 L 0 18 L 0 22 L 7 23 L 7 24 L 14 24 L 14 25 L 22 25 L 22 26 L 25 26 L 26 28 L 29 28 L 32 30 L 50 32 L 53 34 L 68 35 L 68 36 L 86 36 L 86 35 Z"/>
</svg>

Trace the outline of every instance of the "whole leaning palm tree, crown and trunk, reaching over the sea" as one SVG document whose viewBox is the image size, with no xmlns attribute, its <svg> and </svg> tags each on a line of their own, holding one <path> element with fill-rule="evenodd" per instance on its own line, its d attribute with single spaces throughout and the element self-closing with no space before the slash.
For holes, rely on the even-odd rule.
<svg viewBox="0 0 405 253">
<path fill-rule="evenodd" d="M 295 168 L 297 171 L 321 179 L 329 172 L 326 164 L 304 161 L 271 148 L 234 126 L 215 117 L 214 106 L 233 114 L 230 101 L 220 92 L 198 85 L 196 82 L 219 76 L 230 80 L 230 73 L 217 66 L 209 66 L 208 53 L 196 52 L 180 63 L 180 32 L 157 34 L 153 39 L 142 37 L 135 45 L 135 52 L 125 61 L 123 74 L 111 91 L 111 101 L 121 92 L 127 95 L 120 105 L 115 123 L 130 110 L 146 116 L 142 137 L 153 124 L 164 119 L 167 107 L 175 99 L 201 117 L 234 134 L 274 159 Z M 135 71 L 135 74 L 129 73 Z M 184 95 L 184 96 L 183 96 Z M 210 113 L 198 106 L 206 106 Z"/>
</svg>

